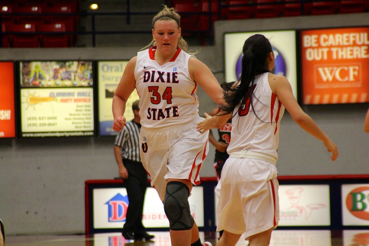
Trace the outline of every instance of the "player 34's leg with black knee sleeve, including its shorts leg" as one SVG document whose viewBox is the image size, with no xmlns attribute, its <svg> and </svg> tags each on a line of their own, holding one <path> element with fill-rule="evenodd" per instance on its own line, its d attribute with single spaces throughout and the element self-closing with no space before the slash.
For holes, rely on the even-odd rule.
<svg viewBox="0 0 369 246">
<path fill-rule="evenodd" d="M 200 183 L 201 164 L 208 152 L 208 135 L 196 131 L 197 121 L 200 119 L 177 128 L 170 135 L 164 208 L 173 246 L 201 246 L 199 229 L 188 202 L 193 184 Z"/>
</svg>

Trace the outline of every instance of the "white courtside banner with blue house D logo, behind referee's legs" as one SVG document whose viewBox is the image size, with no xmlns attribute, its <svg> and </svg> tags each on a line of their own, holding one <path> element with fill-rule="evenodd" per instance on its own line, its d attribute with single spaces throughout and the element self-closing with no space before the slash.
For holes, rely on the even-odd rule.
<svg viewBox="0 0 369 246">
<path fill-rule="evenodd" d="M 192 188 L 189 197 L 190 211 L 198 226 L 204 226 L 204 191 L 201 186 Z M 93 226 L 94 229 L 123 228 L 128 207 L 125 188 L 93 189 Z M 152 187 L 145 194 L 142 222 L 146 228 L 169 228 L 163 202 Z"/>
</svg>

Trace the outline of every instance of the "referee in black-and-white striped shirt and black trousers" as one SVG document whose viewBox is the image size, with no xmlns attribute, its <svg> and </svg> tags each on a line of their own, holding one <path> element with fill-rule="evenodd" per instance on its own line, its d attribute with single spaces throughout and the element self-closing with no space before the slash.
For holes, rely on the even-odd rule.
<svg viewBox="0 0 369 246">
<path fill-rule="evenodd" d="M 127 240 L 150 240 L 153 235 L 146 233 L 142 225 L 144 198 L 148 184 L 147 173 L 139 156 L 139 132 L 141 130 L 138 114 L 139 101 L 132 104 L 134 119 L 115 138 L 114 155 L 119 167 L 119 176 L 124 179 L 128 195 L 128 208 L 122 235 Z"/>
</svg>

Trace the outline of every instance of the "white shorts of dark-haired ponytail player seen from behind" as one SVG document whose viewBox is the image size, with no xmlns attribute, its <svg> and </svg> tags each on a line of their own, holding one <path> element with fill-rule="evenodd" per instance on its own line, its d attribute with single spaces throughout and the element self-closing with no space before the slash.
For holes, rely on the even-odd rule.
<svg viewBox="0 0 369 246">
<path fill-rule="evenodd" d="M 276 228 L 279 196 L 276 166 L 263 160 L 230 157 L 215 189 L 217 231 L 249 236 Z"/>
</svg>

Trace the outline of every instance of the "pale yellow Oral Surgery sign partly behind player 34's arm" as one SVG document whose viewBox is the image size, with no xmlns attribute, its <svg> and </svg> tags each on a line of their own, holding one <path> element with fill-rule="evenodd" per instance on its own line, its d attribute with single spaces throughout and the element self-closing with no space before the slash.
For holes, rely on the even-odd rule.
<svg viewBox="0 0 369 246">
<path fill-rule="evenodd" d="M 127 60 L 122 61 L 99 61 L 98 67 L 98 85 L 99 85 L 99 122 L 100 135 L 117 135 L 112 128 L 114 117 L 111 110 L 113 96 L 120 79 L 123 75 Z M 127 100 L 124 117 L 126 121 L 134 118 L 132 103 L 139 100 L 137 91 L 134 90 Z"/>
</svg>

